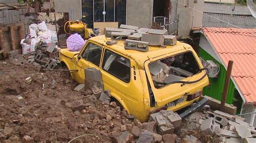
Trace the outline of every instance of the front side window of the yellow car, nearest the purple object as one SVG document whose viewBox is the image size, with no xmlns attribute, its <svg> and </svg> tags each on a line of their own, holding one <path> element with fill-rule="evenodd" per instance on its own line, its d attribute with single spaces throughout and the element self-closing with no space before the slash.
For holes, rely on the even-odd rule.
<svg viewBox="0 0 256 143">
<path fill-rule="evenodd" d="M 82 58 L 84 58 L 87 61 L 90 61 L 94 65 L 99 67 L 99 62 L 100 62 L 100 57 L 102 56 L 102 47 L 89 43 L 86 48 L 84 53 L 82 54 Z"/>
</svg>

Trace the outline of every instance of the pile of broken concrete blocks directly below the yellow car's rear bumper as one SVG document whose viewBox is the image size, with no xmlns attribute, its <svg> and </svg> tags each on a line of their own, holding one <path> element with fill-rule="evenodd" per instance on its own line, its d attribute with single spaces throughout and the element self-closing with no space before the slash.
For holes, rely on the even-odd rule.
<svg viewBox="0 0 256 143">
<path fill-rule="evenodd" d="M 166 110 L 151 114 L 149 121 L 157 122 L 157 132 L 161 135 L 172 134 L 174 129 L 181 125 L 178 113 Z"/>
</svg>

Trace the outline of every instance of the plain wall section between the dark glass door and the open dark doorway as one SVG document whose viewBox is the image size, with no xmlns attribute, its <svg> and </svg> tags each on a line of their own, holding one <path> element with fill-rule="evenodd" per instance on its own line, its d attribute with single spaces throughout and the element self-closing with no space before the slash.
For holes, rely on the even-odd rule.
<svg viewBox="0 0 256 143">
<path fill-rule="evenodd" d="M 151 28 L 153 0 L 127 0 L 126 24 Z"/>
</svg>

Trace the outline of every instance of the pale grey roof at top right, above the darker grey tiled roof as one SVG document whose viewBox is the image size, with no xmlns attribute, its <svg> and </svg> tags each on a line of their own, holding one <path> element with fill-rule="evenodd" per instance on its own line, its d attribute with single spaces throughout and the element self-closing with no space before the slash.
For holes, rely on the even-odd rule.
<svg viewBox="0 0 256 143">
<path fill-rule="evenodd" d="M 221 14 L 231 15 L 233 8 L 234 8 L 234 5 L 229 5 L 229 4 L 204 3 L 204 12 L 208 12 L 208 13 L 221 13 Z M 233 12 L 233 15 L 251 16 L 252 13 L 250 12 L 247 6 L 235 5 L 235 10 Z"/>
</svg>

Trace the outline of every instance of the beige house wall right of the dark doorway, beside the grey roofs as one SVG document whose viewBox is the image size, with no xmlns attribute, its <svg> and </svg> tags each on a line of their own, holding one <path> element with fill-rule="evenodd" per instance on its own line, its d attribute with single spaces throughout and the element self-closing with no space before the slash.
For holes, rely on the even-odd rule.
<svg viewBox="0 0 256 143">
<path fill-rule="evenodd" d="M 192 27 L 201 27 L 203 23 L 203 13 L 198 12 L 204 10 L 204 0 L 198 0 L 197 3 L 190 0 L 171 0 L 171 18 L 172 20 L 179 18 L 178 35 L 187 36 L 190 34 Z M 185 5 L 190 6 L 186 8 Z M 196 10 L 193 10 L 196 9 Z"/>
</svg>

